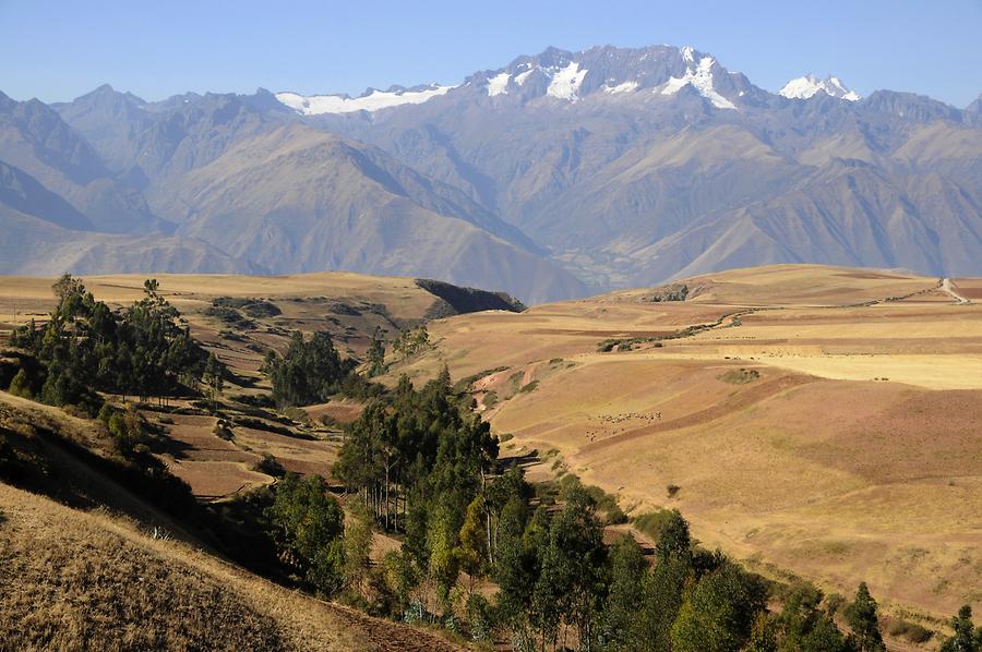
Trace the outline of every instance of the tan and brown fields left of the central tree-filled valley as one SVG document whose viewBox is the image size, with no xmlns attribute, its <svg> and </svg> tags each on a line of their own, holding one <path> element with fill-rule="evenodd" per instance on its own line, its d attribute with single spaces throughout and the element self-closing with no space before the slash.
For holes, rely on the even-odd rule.
<svg viewBox="0 0 982 652">
<path fill-rule="evenodd" d="M 455 311 L 409 278 L 347 273 L 155 278 L 161 297 L 180 311 L 194 339 L 215 353 L 236 381 L 225 401 L 225 411 L 233 418 L 230 439 L 216 434 L 217 419 L 209 410 L 187 400 L 168 406 L 166 411 L 142 409 L 143 415 L 163 428 L 170 442 L 161 455 L 168 469 L 205 500 L 221 500 L 272 484 L 274 478 L 258 469 L 263 455 L 273 456 L 286 471 L 330 476 L 337 456 L 339 427 L 360 413 L 360 403 L 342 400 L 309 408 L 304 423 L 289 419 L 277 423 L 263 418 L 272 416 L 263 414 L 263 410 L 259 410 L 261 418 L 255 418 L 255 408 L 250 409 L 233 397 L 268 393 L 268 382 L 260 373 L 266 351 L 282 351 L 295 330 L 326 330 L 344 354 L 361 355 L 376 331 L 381 337 L 394 338 L 400 329 L 421 323 L 431 314 Z M 0 277 L 0 343 L 4 329 L 29 319 L 47 319 L 56 303 L 53 280 Z M 140 275 L 84 278 L 95 298 L 111 306 L 141 299 L 144 280 Z M 125 402 L 127 397 L 118 399 Z M 319 427 L 323 422 L 333 426 Z M 304 431 L 301 436 L 297 435 L 298 428 Z"/>
</svg>

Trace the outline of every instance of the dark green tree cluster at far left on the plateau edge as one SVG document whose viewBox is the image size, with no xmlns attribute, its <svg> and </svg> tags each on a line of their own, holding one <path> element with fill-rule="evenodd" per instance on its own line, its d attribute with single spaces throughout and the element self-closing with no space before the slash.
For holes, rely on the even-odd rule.
<svg viewBox="0 0 982 652">
<path fill-rule="evenodd" d="M 52 289 L 58 305 L 48 323 L 38 327 L 32 321 L 11 338 L 34 353 L 41 373 L 22 369 L 11 393 L 95 413 L 100 402 L 95 390 L 145 400 L 196 386 L 207 354 L 158 293 L 156 280 L 147 280 L 143 299 L 120 312 L 96 301 L 70 275 Z"/>
</svg>

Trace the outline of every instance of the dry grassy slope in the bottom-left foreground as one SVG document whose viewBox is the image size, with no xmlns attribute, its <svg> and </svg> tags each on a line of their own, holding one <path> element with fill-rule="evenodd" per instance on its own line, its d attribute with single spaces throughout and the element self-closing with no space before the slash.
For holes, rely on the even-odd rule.
<svg viewBox="0 0 982 652">
<path fill-rule="evenodd" d="M 0 393 L 0 435 L 40 492 L 0 483 L 0 650 L 454 649 L 215 555 L 93 466 L 89 421 Z"/>
</svg>

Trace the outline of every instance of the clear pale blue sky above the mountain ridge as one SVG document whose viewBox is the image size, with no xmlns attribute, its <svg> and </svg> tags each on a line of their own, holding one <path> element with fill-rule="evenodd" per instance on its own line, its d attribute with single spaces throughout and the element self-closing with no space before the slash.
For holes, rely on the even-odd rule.
<svg viewBox="0 0 982 652">
<path fill-rule="evenodd" d="M 99 84 L 360 94 L 455 83 L 547 46 L 693 45 L 777 90 L 835 73 L 863 95 L 982 93 L 982 0 L 251 2 L 0 0 L 0 90 L 68 100 Z"/>
</svg>

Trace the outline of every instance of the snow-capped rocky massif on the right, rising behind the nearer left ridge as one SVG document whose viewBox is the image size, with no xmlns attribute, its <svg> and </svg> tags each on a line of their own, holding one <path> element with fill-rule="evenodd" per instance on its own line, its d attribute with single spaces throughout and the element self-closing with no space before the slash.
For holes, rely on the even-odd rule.
<svg viewBox="0 0 982 652">
<path fill-rule="evenodd" d="M 813 81 L 789 98 L 691 48 L 548 49 L 424 104 L 304 119 L 467 190 L 598 287 L 788 262 L 979 273 L 974 113 Z"/>
</svg>

